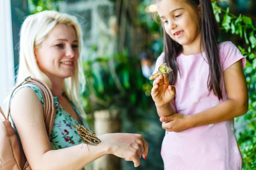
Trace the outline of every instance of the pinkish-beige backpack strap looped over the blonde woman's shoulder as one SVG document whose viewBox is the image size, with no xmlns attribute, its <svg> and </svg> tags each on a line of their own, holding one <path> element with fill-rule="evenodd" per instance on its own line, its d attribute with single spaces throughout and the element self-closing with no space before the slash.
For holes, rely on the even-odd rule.
<svg viewBox="0 0 256 170">
<path fill-rule="evenodd" d="M 53 129 L 53 125 L 54 125 L 55 115 L 56 115 L 55 103 L 54 103 L 53 94 L 52 94 L 51 89 L 48 87 L 48 85 L 46 85 L 44 82 L 42 82 L 39 79 L 27 77 L 22 83 L 15 86 L 15 88 L 12 90 L 12 92 L 10 94 L 10 98 L 8 101 L 6 119 L 8 119 L 10 116 L 10 102 L 11 102 L 11 96 L 13 95 L 13 92 L 21 85 L 24 85 L 27 83 L 39 86 L 39 88 L 42 91 L 42 96 L 43 96 L 43 101 L 44 101 L 43 117 L 44 117 L 44 122 L 45 122 L 45 127 L 46 127 L 48 137 L 50 137 L 52 129 Z"/>
</svg>

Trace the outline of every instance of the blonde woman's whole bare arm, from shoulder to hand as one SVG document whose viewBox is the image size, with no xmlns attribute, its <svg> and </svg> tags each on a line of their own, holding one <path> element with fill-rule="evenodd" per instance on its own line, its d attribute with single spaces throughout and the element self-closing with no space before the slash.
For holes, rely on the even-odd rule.
<svg viewBox="0 0 256 170">
<path fill-rule="evenodd" d="M 13 97 L 11 115 L 33 170 L 78 170 L 105 154 L 133 161 L 138 167 L 141 155 L 147 156 L 148 145 L 141 135 L 123 133 L 98 136 L 101 143 L 88 145 L 89 150 L 86 144 L 51 150 L 42 105 L 31 88 L 21 88 Z"/>
</svg>

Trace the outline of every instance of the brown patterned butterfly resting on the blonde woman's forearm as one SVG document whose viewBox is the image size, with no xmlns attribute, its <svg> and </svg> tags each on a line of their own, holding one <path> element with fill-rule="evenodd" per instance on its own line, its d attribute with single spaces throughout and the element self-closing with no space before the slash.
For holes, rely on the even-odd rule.
<svg viewBox="0 0 256 170">
<path fill-rule="evenodd" d="M 78 135 L 82 139 L 83 143 L 91 144 L 91 145 L 98 145 L 101 142 L 100 139 L 98 137 L 96 137 L 95 133 L 89 132 L 83 125 L 77 126 L 77 131 L 78 131 Z"/>
</svg>

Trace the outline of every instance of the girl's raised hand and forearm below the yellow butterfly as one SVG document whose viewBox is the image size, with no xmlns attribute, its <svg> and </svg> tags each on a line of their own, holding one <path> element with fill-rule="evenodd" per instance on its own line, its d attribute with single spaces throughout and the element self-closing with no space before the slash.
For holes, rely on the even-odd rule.
<svg viewBox="0 0 256 170">
<path fill-rule="evenodd" d="M 169 116 L 175 113 L 175 87 L 169 84 L 166 74 L 160 75 L 154 82 L 151 96 L 156 104 L 158 116 Z"/>
</svg>

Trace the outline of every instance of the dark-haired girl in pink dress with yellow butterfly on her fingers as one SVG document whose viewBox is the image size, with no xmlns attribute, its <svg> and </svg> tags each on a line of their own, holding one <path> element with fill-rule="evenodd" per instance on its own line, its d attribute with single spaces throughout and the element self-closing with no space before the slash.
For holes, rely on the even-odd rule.
<svg viewBox="0 0 256 170">
<path fill-rule="evenodd" d="M 166 130 L 165 170 L 240 170 L 234 118 L 248 109 L 245 58 L 231 42 L 217 42 L 211 0 L 158 0 L 157 7 L 164 52 L 154 72 L 162 63 L 173 69 L 152 88 Z"/>
</svg>

